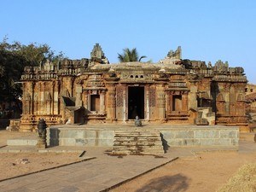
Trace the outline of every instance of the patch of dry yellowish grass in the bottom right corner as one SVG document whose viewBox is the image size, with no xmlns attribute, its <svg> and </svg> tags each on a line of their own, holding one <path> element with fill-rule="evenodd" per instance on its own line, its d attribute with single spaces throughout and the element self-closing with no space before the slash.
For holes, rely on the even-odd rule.
<svg viewBox="0 0 256 192">
<path fill-rule="evenodd" d="M 255 192 L 256 163 L 241 166 L 241 168 L 224 184 L 218 192 Z"/>
</svg>

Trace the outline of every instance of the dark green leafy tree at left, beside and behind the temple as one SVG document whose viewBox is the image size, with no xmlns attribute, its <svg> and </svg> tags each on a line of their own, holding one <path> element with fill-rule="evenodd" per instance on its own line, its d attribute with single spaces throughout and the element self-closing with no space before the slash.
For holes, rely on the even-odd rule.
<svg viewBox="0 0 256 192">
<path fill-rule="evenodd" d="M 20 42 L 8 43 L 8 38 L 0 42 L 0 102 L 15 101 L 22 95 L 20 81 L 25 66 L 38 66 L 45 59 L 58 61 L 63 54 L 55 55 L 47 44 Z"/>
</svg>

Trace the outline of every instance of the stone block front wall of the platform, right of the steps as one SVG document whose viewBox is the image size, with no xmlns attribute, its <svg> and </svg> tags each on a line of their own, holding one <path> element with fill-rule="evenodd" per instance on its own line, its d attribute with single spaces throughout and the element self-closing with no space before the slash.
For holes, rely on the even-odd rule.
<svg viewBox="0 0 256 192">
<path fill-rule="evenodd" d="M 168 146 L 238 147 L 239 127 L 211 126 L 160 131 Z"/>
</svg>

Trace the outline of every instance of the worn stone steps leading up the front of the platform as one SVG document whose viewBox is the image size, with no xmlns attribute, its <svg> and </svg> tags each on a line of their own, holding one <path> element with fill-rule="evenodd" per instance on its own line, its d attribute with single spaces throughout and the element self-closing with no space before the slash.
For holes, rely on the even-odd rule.
<svg viewBox="0 0 256 192">
<path fill-rule="evenodd" d="M 115 131 L 112 154 L 164 154 L 160 131 Z"/>
</svg>

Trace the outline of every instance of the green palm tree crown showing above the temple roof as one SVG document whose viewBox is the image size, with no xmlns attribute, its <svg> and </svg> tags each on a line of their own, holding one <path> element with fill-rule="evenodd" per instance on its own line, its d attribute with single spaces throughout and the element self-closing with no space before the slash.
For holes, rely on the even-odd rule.
<svg viewBox="0 0 256 192">
<path fill-rule="evenodd" d="M 123 49 L 124 53 L 123 54 L 118 54 L 118 58 L 120 62 L 132 62 L 132 61 L 141 61 L 143 58 L 146 58 L 147 56 L 143 55 L 139 57 L 137 53 L 137 49 Z"/>
</svg>

